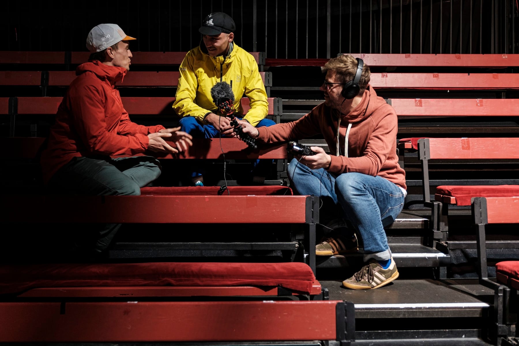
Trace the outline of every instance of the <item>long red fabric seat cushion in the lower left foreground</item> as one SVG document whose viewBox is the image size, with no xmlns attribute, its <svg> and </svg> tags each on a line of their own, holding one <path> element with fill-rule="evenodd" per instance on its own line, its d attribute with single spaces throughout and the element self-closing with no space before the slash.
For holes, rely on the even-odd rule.
<svg viewBox="0 0 519 346">
<path fill-rule="evenodd" d="M 36 287 L 282 286 L 310 293 L 316 281 L 302 262 L 151 262 L 0 266 L 0 294 Z"/>
</svg>

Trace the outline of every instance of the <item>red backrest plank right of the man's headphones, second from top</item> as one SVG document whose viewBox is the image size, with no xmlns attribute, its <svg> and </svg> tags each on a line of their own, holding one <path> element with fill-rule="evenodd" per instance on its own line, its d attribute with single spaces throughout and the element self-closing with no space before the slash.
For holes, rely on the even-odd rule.
<svg viewBox="0 0 519 346">
<path fill-rule="evenodd" d="M 372 73 L 374 88 L 438 90 L 519 89 L 513 73 Z"/>
</svg>

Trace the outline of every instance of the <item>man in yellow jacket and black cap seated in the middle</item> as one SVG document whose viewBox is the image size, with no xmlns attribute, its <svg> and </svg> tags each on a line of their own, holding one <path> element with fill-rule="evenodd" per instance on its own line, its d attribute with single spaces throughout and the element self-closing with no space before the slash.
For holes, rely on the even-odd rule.
<svg viewBox="0 0 519 346">
<path fill-rule="evenodd" d="M 271 126 L 267 119 L 268 101 L 265 86 L 254 57 L 234 43 L 234 20 L 223 12 L 210 13 L 198 30 L 200 46 L 188 51 L 180 65 L 179 84 L 173 109 L 181 119 L 181 130 L 195 138 L 235 136 L 230 118 L 218 115 L 211 88 L 226 82 L 234 93 L 234 115 L 238 123 Z M 243 116 L 242 96 L 250 100 L 251 109 Z M 200 173 L 193 183 L 203 185 Z"/>
</svg>

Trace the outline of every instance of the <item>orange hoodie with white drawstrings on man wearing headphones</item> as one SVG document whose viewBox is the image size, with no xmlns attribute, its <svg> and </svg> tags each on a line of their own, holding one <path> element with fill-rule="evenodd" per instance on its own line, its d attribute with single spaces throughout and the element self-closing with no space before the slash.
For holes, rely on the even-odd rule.
<svg viewBox="0 0 519 346">
<path fill-rule="evenodd" d="M 405 171 L 398 164 L 397 156 L 397 114 L 371 86 L 364 91 L 359 105 L 347 115 L 321 103 L 301 119 L 260 127 L 258 131 L 258 139 L 266 143 L 322 134 L 332 154 L 330 172 L 379 175 L 406 189 Z"/>
</svg>

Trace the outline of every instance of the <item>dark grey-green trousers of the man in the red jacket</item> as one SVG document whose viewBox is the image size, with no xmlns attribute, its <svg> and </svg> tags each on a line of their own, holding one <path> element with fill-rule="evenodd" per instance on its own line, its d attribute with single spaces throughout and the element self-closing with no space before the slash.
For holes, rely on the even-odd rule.
<svg viewBox="0 0 519 346">
<path fill-rule="evenodd" d="M 141 187 L 157 179 L 161 170 L 159 161 L 149 156 L 115 159 L 75 157 L 52 176 L 47 188 L 52 193 L 66 195 L 138 196 L 141 194 Z M 100 224 L 95 232 L 88 230 L 87 234 L 74 235 L 78 250 L 87 253 L 103 252 L 120 226 Z"/>
</svg>

